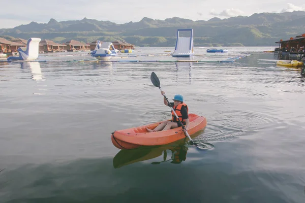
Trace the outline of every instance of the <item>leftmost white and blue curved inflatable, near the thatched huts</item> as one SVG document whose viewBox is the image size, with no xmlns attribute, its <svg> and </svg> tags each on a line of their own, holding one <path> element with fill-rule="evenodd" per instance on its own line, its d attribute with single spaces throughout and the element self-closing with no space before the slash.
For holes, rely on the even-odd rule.
<svg viewBox="0 0 305 203">
<path fill-rule="evenodd" d="M 40 38 L 30 38 L 27 40 L 26 47 L 19 47 L 17 51 L 19 56 L 10 56 L 8 61 L 11 60 L 35 60 L 39 55 L 39 42 Z"/>
</svg>

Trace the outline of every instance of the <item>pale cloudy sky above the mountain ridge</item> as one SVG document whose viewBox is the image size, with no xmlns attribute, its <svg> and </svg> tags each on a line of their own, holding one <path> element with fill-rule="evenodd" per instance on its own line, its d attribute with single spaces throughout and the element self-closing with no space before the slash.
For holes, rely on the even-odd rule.
<svg viewBox="0 0 305 203">
<path fill-rule="evenodd" d="M 158 20 L 179 17 L 195 21 L 263 12 L 305 11 L 305 2 L 296 0 L 15 0 L 7 8 L 2 2 L 5 0 L 0 0 L 0 29 L 32 21 L 48 23 L 51 18 L 60 22 L 86 17 L 121 24 L 138 22 L 144 17 Z"/>
</svg>

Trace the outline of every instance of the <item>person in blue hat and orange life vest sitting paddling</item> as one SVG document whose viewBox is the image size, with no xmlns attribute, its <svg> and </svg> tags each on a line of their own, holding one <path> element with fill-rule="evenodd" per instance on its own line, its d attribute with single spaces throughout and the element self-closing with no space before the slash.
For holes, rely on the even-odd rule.
<svg viewBox="0 0 305 203">
<path fill-rule="evenodd" d="M 161 91 L 161 94 L 164 95 L 165 92 Z M 171 102 L 170 104 L 167 103 L 165 96 L 164 96 L 164 104 L 169 107 L 173 107 L 175 110 L 177 116 L 179 117 L 181 123 L 185 125 L 185 131 L 188 130 L 190 120 L 189 120 L 189 108 L 187 104 L 183 102 L 183 96 L 180 94 L 176 94 L 173 98 L 174 102 Z M 180 122 L 177 120 L 175 114 L 172 112 L 172 119 L 171 121 L 164 121 L 161 124 L 159 124 L 155 129 L 149 129 L 146 127 L 146 130 L 148 132 L 157 132 L 161 130 L 169 130 L 172 128 L 181 127 Z"/>
</svg>

